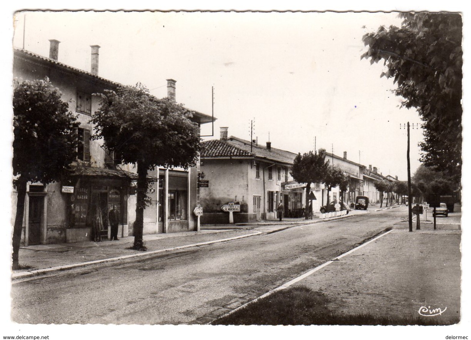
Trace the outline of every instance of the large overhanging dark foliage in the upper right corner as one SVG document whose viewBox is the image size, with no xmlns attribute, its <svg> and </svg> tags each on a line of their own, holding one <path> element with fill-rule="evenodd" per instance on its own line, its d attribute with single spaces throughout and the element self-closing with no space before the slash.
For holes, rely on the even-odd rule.
<svg viewBox="0 0 471 340">
<path fill-rule="evenodd" d="M 362 58 L 384 60 L 381 76 L 397 83 L 402 106 L 424 122 L 421 161 L 461 180 L 463 21 L 458 13 L 402 13 L 401 27 L 381 26 L 363 36 Z"/>
</svg>

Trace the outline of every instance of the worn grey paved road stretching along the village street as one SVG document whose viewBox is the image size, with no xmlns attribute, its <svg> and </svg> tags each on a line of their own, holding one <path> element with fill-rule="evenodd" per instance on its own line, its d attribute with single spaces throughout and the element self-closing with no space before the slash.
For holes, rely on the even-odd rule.
<svg viewBox="0 0 471 340">
<path fill-rule="evenodd" d="M 404 220 L 403 208 L 14 283 L 30 324 L 203 324 Z"/>
</svg>

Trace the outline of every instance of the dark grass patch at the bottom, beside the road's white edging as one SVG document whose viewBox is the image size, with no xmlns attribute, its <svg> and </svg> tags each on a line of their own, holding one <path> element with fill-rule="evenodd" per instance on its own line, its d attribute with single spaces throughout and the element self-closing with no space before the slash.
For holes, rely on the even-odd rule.
<svg viewBox="0 0 471 340">
<path fill-rule="evenodd" d="M 249 303 L 232 314 L 213 321 L 213 325 L 447 325 L 459 322 L 440 318 L 370 314 L 344 315 L 329 310 L 328 298 L 309 287 L 296 286 L 276 291 Z"/>
</svg>

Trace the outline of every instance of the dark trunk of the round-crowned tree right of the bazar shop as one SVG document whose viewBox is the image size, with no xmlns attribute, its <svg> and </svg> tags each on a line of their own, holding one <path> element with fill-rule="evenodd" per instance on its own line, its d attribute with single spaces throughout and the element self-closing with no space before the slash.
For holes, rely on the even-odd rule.
<svg viewBox="0 0 471 340">
<path fill-rule="evenodd" d="M 147 166 L 144 162 L 138 161 L 138 183 L 137 183 L 137 202 L 136 202 L 136 221 L 133 225 L 134 245 L 133 249 L 146 251 L 147 248 L 142 240 L 144 229 L 144 208 L 146 207 L 147 192 Z"/>
</svg>

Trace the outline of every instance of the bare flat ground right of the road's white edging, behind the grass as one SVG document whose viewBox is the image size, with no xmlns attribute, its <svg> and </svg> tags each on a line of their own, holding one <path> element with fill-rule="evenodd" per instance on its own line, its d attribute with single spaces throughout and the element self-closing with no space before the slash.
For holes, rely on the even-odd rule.
<svg viewBox="0 0 471 340">
<path fill-rule="evenodd" d="M 454 215 L 461 218 L 461 212 Z M 403 222 L 294 285 L 324 293 L 328 307 L 346 315 L 423 316 L 457 323 L 461 317 L 458 223 L 440 224 L 437 230 L 430 224 L 415 230 L 414 225 L 409 232 Z"/>
</svg>

